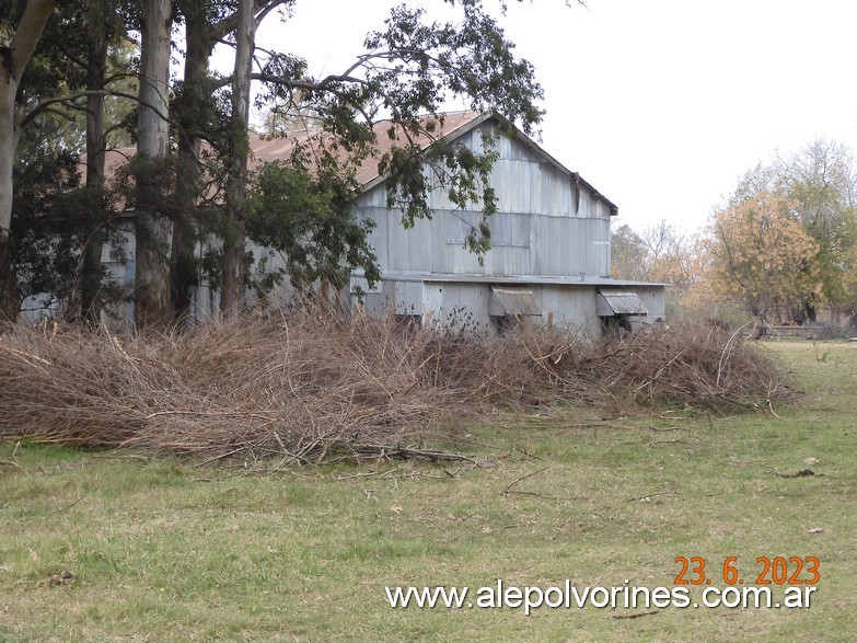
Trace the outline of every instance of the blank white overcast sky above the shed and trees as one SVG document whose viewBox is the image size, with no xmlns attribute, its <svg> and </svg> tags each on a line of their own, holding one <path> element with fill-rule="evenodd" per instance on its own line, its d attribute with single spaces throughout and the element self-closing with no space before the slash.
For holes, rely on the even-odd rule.
<svg viewBox="0 0 857 643">
<path fill-rule="evenodd" d="M 500 24 L 545 89 L 542 146 L 618 206 L 617 223 L 693 232 L 777 151 L 819 137 L 857 151 L 857 2 L 508 1 Z M 258 42 L 335 73 L 396 3 L 299 0 Z"/>
</svg>

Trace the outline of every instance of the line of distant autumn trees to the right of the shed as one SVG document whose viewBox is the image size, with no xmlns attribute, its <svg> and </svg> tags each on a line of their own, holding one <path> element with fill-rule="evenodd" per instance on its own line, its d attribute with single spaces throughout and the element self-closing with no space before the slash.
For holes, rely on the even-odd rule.
<svg viewBox="0 0 857 643">
<path fill-rule="evenodd" d="M 817 140 L 758 164 L 685 237 L 662 221 L 613 232 L 614 276 L 671 285 L 673 303 L 730 305 L 761 335 L 777 321 L 815 322 L 819 307 L 857 313 L 857 174 L 842 143 Z"/>
</svg>

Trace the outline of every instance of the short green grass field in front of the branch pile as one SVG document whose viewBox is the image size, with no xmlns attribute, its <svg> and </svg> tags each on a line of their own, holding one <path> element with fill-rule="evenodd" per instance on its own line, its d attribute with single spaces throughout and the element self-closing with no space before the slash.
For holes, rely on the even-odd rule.
<svg viewBox="0 0 857 643">
<path fill-rule="evenodd" d="M 576 409 L 458 427 L 478 467 L 257 475 L 0 444 L 0 642 L 854 641 L 857 344 L 760 349 L 803 392 L 776 416 Z M 803 609 L 525 616 L 392 609 L 384 592 L 673 588 L 678 556 L 704 558 L 713 587 L 728 556 L 746 585 L 758 556 L 817 556 L 820 578 Z"/>
</svg>

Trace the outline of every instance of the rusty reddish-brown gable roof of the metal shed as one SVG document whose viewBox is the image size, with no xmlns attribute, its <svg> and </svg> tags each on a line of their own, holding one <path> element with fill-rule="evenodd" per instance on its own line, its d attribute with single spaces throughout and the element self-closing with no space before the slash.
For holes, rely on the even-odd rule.
<svg viewBox="0 0 857 643">
<path fill-rule="evenodd" d="M 510 120 L 500 116 L 496 112 L 449 112 L 442 115 L 442 118 L 438 123 L 438 127 L 435 133 L 427 134 L 424 131 L 419 135 L 413 136 L 412 140 L 418 145 L 420 149 L 425 150 L 439 138 L 445 137 L 448 140 L 455 140 L 488 120 L 494 120 L 496 124 L 501 125 L 503 131 L 508 136 L 529 148 L 536 156 L 542 157 L 545 162 L 556 168 L 561 174 L 567 176 L 576 185 L 586 187 L 595 198 L 603 202 L 610 208 L 610 214 L 612 216 L 616 216 L 618 214 L 618 208 L 616 205 L 613 204 L 603 194 L 601 194 L 598 190 L 595 190 L 589 182 L 583 180 L 579 173 L 568 170 L 554 157 L 548 154 L 537 142 L 520 131 Z M 404 135 L 401 134 L 401 128 L 397 137 L 391 138 L 389 136 L 390 127 L 390 120 L 380 120 L 373 125 L 378 153 L 377 156 L 370 156 L 369 158 L 363 159 L 357 169 L 355 176 L 363 192 L 372 190 L 386 180 L 386 177 L 382 176 L 378 171 L 378 161 L 381 156 L 390 151 L 397 141 L 401 142 L 401 139 L 404 138 Z M 313 137 L 320 135 L 320 129 L 312 129 L 309 127 L 303 129 L 296 129 L 287 133 L 285 136 L 276 138 L 263 137 L 257 134 L 253 134 L 250 136 L 250 168 L 255 169 L 263 163 L 271 161 L 288 161 L 297 143 L 306 142 Z M 207 145 L 204 146 L 204 149 L 206 148 L 208 148 Z M 109 150 L 105 159 L 106 175 L 111 176 L 121 164 L 134 158 L 136 153 L 136 148 Z M 81 169 L 84 167 L 85 157 L 81 159 Z"/>
</svg>

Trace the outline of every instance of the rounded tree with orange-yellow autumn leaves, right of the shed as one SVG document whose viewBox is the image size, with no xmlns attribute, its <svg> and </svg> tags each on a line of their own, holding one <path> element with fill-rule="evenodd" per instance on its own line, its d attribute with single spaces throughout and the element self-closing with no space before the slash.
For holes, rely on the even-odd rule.
<svg viewBox="0 0 857 643">
<path fill-rule="evenodd" d="M 715 211 L 698 239 L 695 298 L 751 312 L 752 336 L 760 337 L 774 307 L 819 287 L 818 254 L 792 203 L 766 190 L 744 194 Z"/>
</svg>

